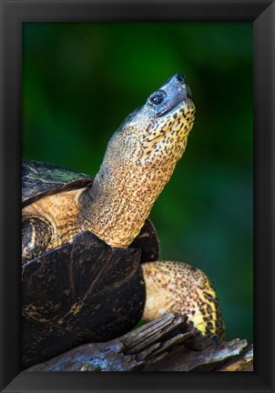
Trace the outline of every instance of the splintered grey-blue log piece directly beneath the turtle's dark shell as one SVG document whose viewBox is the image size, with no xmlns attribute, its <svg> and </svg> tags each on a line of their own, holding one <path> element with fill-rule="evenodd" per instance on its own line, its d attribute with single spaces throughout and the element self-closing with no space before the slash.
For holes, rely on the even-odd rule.
<svg viewBox="0 0 275 393">
<path fill-rule="evenodd" d="M 106 343 L 85 344 L 40 363 L 29 371 L 131 371 L 159 359 L 193 336 L 186 317 L 168 314 Z"/>
</svg>

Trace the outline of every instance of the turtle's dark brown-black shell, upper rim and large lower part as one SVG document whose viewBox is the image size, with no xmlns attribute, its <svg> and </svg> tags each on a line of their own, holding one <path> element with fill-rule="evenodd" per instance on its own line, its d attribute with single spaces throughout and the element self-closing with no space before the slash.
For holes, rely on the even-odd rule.
<svg viewBox="0 0 275 393">
<path fill-rule="evenodd" d="M 23 206 L 65 190 L 90 186 L 93 177 L 24 161 Z M 107 341 L 142 316 L 145 283 L 139 264 L 156 260 L 158 235 L 147 220 L 128 248 L 108 246 L 85 231 L 71 243 L 22 266 L 23 368 L 86 342 Z"/>
</svg>

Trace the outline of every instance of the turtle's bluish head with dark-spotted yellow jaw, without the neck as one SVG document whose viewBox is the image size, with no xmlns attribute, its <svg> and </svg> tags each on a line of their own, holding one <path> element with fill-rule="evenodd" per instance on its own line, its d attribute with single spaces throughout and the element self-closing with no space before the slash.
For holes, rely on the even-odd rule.
<svg viewBox="0 0 275 393">
<path fill-rule="evenodd" d="M 195 106 L 185 76 L 175 74 L 127 116 L 110 140 L 120 159 L 140 165 L 178 161 L 187 145 Z"/>
</svg>

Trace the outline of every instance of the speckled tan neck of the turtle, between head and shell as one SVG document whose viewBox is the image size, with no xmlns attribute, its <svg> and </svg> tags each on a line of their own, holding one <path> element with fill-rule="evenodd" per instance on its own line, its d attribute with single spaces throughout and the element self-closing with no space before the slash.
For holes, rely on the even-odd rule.
<svg viewBox="0 0 275 393">
<path fill-rule="evenodd" d="M 175 166 L 176 162 L 165 171 L 159 166 L 149 170 L 145 166 L 121 167 L 116 178 L 108 177 L 107 182 L 96 177 L 85 227 L 109 246 L 128 247 L 138 236 Z"/>
</svg>

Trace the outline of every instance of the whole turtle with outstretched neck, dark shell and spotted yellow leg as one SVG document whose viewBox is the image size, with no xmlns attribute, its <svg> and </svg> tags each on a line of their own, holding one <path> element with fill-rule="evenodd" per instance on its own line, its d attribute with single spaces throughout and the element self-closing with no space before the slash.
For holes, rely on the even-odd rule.
<svg viewBox="0 0 275 393">
<path fill-rule="evenodd" d="M 158 261 L 148 218 L 195 120 L 186 77 L 171 76 L 111 136 L 95 177 L 37 161 L 22 173 L 23 366 L 119 337 L 170 311 L 222 337 L 207 275 Z"/>
</svg>

